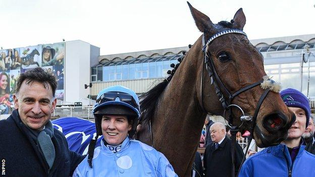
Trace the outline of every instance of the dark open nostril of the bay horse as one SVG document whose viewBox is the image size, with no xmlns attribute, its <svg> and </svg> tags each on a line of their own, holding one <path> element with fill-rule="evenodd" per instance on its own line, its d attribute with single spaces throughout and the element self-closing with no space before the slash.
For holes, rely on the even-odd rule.
<svg viewBox="0 0 315 177">
<path fill-rule="evenodd" d="M 284 120 L 278 113 L 269 114 L 264 119 L 264 127 L 271 132 L 281 129 L 284 125 Z"/>
</svg>

